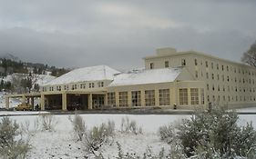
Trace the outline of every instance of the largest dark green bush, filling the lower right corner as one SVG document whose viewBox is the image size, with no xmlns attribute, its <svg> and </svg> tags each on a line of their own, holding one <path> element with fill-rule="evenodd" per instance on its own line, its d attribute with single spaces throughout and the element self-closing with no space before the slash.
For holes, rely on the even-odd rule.
<svg viewBox="0 0 256 159">
<path fill-rule="evenodd" d="M 198 158 L 255 157 L 256 133 L 251 124 L 238 126 L 238 115 L 214 109 L 184 119 L 178 137 L 188 156 Z"/>
</svg>

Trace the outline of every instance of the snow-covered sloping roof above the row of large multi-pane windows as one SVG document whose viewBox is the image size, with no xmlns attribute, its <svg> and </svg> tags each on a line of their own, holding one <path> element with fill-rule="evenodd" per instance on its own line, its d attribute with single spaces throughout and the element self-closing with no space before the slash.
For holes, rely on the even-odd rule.
<svg viewBox="0 0 256 159">
<path fill-rule="evenodd" d="M 182 67 L 139 70 L 127 74 L 116 75 L 114 81 L 108 86 L 173 82 L 181 71 Z"/>
</svg>

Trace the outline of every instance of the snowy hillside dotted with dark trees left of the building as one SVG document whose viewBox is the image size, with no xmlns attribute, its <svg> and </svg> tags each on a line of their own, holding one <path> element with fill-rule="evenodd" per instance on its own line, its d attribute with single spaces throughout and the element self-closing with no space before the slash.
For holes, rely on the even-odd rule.
<svg viewBox="0 0 256 159">
<path fill-rule="evenodd" d="M 42 84 L 69 72 L 39 63 L 27 63 L 14 55 L 0 55 L 0 91 L 11 93 L 38 92 Z"/>
</svg>

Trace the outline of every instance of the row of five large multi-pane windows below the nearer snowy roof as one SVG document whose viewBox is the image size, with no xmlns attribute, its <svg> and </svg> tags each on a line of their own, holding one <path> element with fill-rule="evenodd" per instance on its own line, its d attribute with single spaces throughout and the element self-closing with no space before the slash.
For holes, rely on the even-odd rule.
<svg viewBox="0 0 256 159">
<path fill-rule="evenodd" d="M 128 106 L 128 92 L 119 92 L 119 106 Z M 156 105 L 155 90 L 145 91 L 146 106 Z M 108 93 L 108 104 L 116 105 L 116 93 Z M 169 89 L 159 90 L 159 104 L 169 105 Z M 131 91 L 131 105 L 141 106 L 141 91 Z"/>
</svg>

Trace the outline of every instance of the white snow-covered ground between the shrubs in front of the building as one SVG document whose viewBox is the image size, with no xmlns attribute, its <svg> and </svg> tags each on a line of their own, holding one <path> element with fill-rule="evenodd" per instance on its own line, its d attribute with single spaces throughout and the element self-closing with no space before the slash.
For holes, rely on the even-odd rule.
<svg viewBox="0 0 256 159">
<path fill-rule="evenodd" d="M 26 113 L 26 112 L 25 112 Z M 37 131 L 32 135 L 30 144 L 32 149 L 27 158 L 31 159 L 46 159 L 46 158 L 84 158 L 86 155 L 85 145 L 78 142 L 74 135 L 72 124 L 68 120 L 69 115 L 56 115 L 56 127 L 54 132 Z M 159 140 L 159 126 L 169 123 L 178 123 L 184 118 L 189 118 L 190 115 L 173 115 L 173 114 L 81 114 L 86 122 L 87 129 L 94 125 L 107 123 L 108 120 L 115 121 L 116 136 L 111 144 L 106 144 L 102 147 L 101 152 L 106 158 L 115 158 L 118 156 L 118 146 L 116 142 L 121 144 L 124 153 L 143 154 L 148 147 L 153 154 L 160 151 L 162 147 L 169 150 L 169 145 Z M 72 117 L 72 115 L 71 115 Z M 143 134 L 121 134 L 121 120 L 128 117 L 130 120 L 135 120 L 138 126 L 142 126 Z M 1 117 L 0 117 L 1 118 Z M 35 130 L 35 122 L 37 115 L 19 115 L 12 116 L 18 124 L 25 124 L 29 121 L 29 129 Z M 253 122 L 256 128 L 256 115 L 240 115 L 239 124 Z"/>
</svg>

